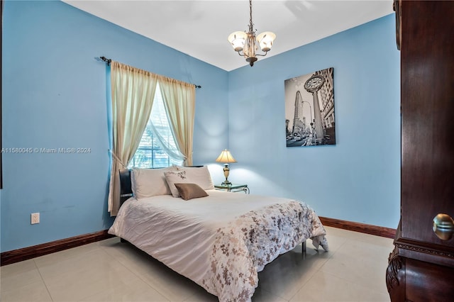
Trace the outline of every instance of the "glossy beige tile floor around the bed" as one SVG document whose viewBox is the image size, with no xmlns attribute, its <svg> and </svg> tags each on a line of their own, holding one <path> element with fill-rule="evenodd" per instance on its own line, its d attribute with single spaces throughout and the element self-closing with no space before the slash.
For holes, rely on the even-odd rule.
<svg viewBox="0 0 454 302">
<path fill-rule="evenodd" d="M 329 252 L 308 240 L 259 273 L 253 301 L 389 301 L 392 239 L 326 227 Z M 111 238 L 0 268 L 0 301 L 218 301 L 216 296 Z"/>
</svg>

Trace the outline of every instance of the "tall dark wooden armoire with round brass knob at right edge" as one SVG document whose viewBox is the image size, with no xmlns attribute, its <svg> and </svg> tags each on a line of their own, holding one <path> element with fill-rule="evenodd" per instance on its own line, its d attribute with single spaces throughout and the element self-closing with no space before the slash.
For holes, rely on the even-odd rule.
<svg viewBox="0 0 454 302">
<path fill-rule="evenodd" d="M 391 301 L 454 301 L 454 1 L 396 0 L 394 10 L 402 186 L 387 289 Z"/>
</svg>

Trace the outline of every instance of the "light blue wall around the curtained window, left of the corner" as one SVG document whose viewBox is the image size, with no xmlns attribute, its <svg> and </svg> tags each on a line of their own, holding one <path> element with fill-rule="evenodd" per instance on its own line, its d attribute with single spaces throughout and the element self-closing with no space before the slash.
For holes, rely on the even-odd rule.
<svg viewBox="0 0 454 302">
<path fill-rule="evenodd" d="M 104 55 L 202 86 L 194 163 L 228 141 L 228 73 L 60 1 L 6 1 L 3 147 L 87 147 L 87 154 L 4 153 L 1 251 L 105 230 L 109 133 Z M 31 225 L 31 213 L 40 224 Z"/>
</svg>

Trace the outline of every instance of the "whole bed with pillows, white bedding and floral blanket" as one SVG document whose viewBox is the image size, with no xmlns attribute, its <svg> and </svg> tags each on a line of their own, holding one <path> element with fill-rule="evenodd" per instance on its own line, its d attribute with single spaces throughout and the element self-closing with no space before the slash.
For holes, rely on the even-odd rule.
<svg viewBox="0 0 454 302">
<path fill-rule="evenodd" d="M 216 191 L 206 167 L 121 170 L 123 201 L 109 233 L 202 286 L 219 301 L 250 301 L 258 272 L 326 231 L 301 201 Z"/>
</svg>

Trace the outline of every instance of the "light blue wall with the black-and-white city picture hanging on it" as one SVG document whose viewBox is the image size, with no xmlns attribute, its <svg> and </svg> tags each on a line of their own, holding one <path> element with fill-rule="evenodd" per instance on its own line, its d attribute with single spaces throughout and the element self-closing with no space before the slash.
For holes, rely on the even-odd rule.
<svg viewBox="0 0 454 302">
<path fill-rule="evenodd" d="M 397 228 L 400 61 L 394 16 L 229 73 L 232 181 L 319 216 Z M 276 42 L 278 43 L 278 41 Z M 286 147 L 284 80 L 334 67 L 336 145 Z"/>
</svg>

